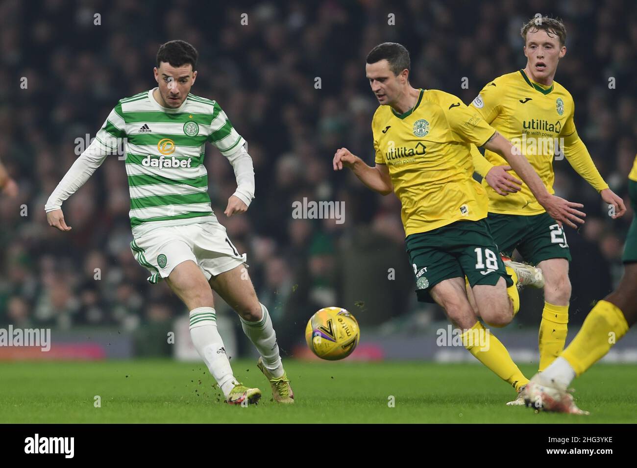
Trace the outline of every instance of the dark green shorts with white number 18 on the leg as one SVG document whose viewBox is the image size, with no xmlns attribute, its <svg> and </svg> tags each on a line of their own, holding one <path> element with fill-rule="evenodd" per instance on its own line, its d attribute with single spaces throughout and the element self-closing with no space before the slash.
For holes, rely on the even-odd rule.
<svg viewBox="0 0 637 468">
<path fill-rule="evenodd" d="M 449 278 L 466 276 L 471 287 L 496 285 L 500 278 L 507 287 L 513 285 L 485 219 L 456 221 L 411 234 L 405 242 L 420 302 L 434 302 L 431 288 Z"/>
</svg>

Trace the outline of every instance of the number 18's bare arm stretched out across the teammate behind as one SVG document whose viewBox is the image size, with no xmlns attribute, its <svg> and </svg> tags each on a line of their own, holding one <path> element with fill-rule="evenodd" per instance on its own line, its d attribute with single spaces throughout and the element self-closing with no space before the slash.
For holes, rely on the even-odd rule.
<svg viewBox="0 0 637 468">
<path fill-rule="evenodd" d="M 513 171 L 529 186 L 538 203 L 547 210 L 547 213 L 557 222 L 577 229 L 575 223 L 582 224 L 585 213 L 577 208 L 583 208 L 583 204 L 569 202 L 561 197 L 551 195 L 542 183 L 540 176 L 534 171 L 526 157 L 516 150 L 508 139 L 495 132 L 487 143 L 483 145 L 487 150 L 501 155 L 513 167 Z"/>
</svg>

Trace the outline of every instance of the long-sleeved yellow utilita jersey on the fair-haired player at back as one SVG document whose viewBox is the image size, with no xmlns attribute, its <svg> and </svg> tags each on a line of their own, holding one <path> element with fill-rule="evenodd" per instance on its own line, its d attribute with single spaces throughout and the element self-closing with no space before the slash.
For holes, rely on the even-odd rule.
<svg viewBox="0 0 637 468">
<path fill-rule="evenodd" d="M 524 70 L 499 76 L 487 84 L 469 104 L 484 120 L 526 155 L 550 194 L 554 194 L 553 159 L 566 156 L 569 164 L 598 192 L 608 188 L 577 134 L 573 97 L 562 85 L 550 87 L 532 82 Z M 476 172 L 486 176 L 493 166 L 508 166 L 499 154 L 485 150 L 482 157 L 472 148 Z M 510 173 L 519 179 L 514 171 Z M 526 184 L 516 194 L 498 195 L 487 184 L 489 212 L 505 215 L 538 215 L 545 211 Z"/>
</svg>

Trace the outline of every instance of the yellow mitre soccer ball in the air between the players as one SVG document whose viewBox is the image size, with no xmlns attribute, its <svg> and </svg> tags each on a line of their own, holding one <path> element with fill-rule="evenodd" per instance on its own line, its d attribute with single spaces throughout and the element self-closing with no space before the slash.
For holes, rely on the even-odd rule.
<svg viewBox="0 0 637 468">
<path fill-rule="evenodd" d="M 311 316 L 305 327 L 305 341 L 322 359 L 336 361 L 352 354 L 361 331 L 354 315 L 340 307 L 326 307 Z"/>
</svg>

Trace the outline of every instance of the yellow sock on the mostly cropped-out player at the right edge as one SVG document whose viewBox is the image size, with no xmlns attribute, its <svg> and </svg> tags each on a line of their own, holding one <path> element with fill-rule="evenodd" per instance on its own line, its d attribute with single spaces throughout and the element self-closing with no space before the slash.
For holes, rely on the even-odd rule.
<svg viewBox="0 0 637 468">
<path fill-rule="evenodd" d="M 604 357 L 613 344 L 628 331 L 624 313 L 607 301 L 599 301 L 584 320 L 582 328 L 562 357 L 579 376 Z"/>
</svg>

